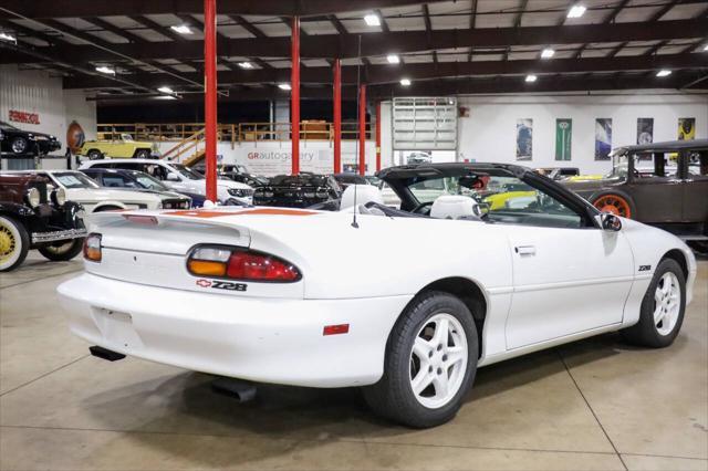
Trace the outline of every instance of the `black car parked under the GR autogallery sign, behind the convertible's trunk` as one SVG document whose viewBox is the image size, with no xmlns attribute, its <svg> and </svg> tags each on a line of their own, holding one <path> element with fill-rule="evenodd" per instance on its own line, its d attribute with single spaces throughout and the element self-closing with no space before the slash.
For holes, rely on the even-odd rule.
<svg viewBox="0 0 708 471">
<path fill-rule="evenodd" d="M 342 189 L 332 176 L 301 172 L 279 175 L 267 186 L 256 188 L 253 205 L 308 208 L 336 202 L 341 197 Z"/>
</svg>

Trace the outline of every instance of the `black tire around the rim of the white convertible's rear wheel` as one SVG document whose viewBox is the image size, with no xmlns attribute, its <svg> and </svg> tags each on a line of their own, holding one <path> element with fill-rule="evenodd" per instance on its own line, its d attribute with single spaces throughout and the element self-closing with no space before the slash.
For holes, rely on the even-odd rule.
<svg viewBox="0 0 708 471">
<path fill-rule="evenodd" d="M 424 406 L 413 391 L 412 350 L 418 333 L 438 314 L 454 316 L 467 341 L 467 366 L 457 393 L 441 407 Z M 439 348 L 438 348 L 439 350 Z M 444 292 L 427 292 L 417 296 L 400 315 L 388 337 L 384 375 L 375 385 L 363 388 L 364 398 L 377 415 L 414 427 L 436 427 L 452 419 L 469 391 L 477 373 L 479 342 L 472 314 L 456 296 Z M 433 369 L 430 369 L 433 371 Z M 438 374 L 440 370 L 438 369 Z"/>
</svg>

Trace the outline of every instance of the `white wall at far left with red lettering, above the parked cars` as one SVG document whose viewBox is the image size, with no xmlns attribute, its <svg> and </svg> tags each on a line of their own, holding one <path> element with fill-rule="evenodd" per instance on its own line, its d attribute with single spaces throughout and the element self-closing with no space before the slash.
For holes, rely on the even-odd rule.
<svg viewBox="0 0 708 471">
<path fill-rule="evenodd" d="M 10 109 L 37 113 L 40 124 L 9 121 Z M 62 88 L 62 78 L 42 71 L 21 71 L 17 65 L 0 65 L 0 121 L 25 130 L 56 136 L 66 150 L 66 129 L 79 122 L 87 139 L 96 136 L 96 104 L 87 102 L 83 91 Z"/>
</svg>

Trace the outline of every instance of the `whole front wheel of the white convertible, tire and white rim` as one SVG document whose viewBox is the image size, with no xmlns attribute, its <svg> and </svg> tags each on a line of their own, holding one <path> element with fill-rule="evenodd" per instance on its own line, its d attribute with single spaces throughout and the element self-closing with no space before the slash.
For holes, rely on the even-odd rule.
<svg viewBox="0 0 708 471">
<path fill-rule="evenodd" d="M 675 260 L 664 259 L 642 301 L 639 322 L 623 328 L 622 336 L 631 344 L 652 348 L 671 345 L 684 323 L 686 280 Z"/>
</svg>

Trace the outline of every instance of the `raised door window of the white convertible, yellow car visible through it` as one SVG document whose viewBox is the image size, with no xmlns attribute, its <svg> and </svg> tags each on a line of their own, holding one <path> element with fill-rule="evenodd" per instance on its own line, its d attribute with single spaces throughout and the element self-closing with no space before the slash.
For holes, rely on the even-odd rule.
<svg viewBox="0 0 708 471">
<path fill-rule="evenodd" d="M 487 220 L 498 223 L 577 229 L 584 218 L 554 197 L 517 177 L 490 176 L 477 190 L 488 207 Z"/>
</svg>

